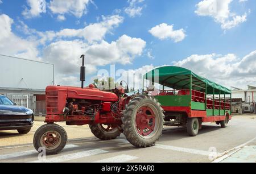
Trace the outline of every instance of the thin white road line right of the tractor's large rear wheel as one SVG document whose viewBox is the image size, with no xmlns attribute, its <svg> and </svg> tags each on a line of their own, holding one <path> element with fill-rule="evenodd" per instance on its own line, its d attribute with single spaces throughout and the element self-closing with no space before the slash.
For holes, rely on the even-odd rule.
<svg viewBox="0 0 256 174">
<path fill-rule="evenodd" d="M 153 146 L 154 148 L 162 148 L 164 150 L 172 150 L 172 151 L 179 151 L 179 152 L 185 152 L 189 154 L 196 154 L 196 155 L 205 155 L 209 156 L 212 154 L 212 152 L 209 151 L 201 151 L 201 150 L 195 150 L 192 148 L 183 148 L 183 147 L 175 147 L 175 146 L 167 146 L 163 144 L 156 144 Z"/>
</svg>

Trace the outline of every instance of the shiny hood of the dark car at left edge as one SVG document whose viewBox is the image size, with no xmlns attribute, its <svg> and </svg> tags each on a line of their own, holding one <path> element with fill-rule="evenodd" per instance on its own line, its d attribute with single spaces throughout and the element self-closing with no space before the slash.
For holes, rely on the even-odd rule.
<svg viewBox="0 0 256 174">
<path fill-rule="evenodd" d="M 23 106 L 15 105 L 0 105 L 0 115 L 31 115 L 33 114 L 31 109 L 27 109 Z"/>
</svg>

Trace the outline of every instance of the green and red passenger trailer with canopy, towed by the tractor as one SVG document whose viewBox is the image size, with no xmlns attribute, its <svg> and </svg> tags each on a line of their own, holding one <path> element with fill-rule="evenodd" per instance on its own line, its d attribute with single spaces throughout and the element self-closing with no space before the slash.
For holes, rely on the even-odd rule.
<svg viewBox="0 0 256 174">
<path fill-rule="evenodd" d="M 231 117 L 232 92 L 189 69 L 166 66 L 143 76 L 143 92 L 154 96 L 164 109 L 167 126 L 187 126 L 196 136 L 203 122 L 226 127 Z M 145 82 L 154 84 L 144 85 Z M 155 86 L 158 84 L 159 89 Z"/>
</svg>

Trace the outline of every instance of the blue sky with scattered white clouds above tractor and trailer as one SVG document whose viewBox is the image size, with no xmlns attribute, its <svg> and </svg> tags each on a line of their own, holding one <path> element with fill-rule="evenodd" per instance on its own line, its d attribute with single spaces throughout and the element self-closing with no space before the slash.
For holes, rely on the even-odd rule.
<svg viewBox="0 0 256 174">
<path fill-rule="evenodd" d="M 59 78 L 57 82 L 60 84 L 78 84 L 77 81 L 73 84 L 70 81 L 78 76 L 79 69 L 75 72 L 75 68 L 79 67 L 79 61 L 72 63 L 73 68 L 67 64 L 78 59 L 75 56 L 82 51 L 88 53 L 89 60 L 96 60 L 88 65 L 88 79 L 92 79 L 98 69 L 109 69 L 110 64 L 115 64 L 116 69 L 133 71 L 180 65 L 226 86 L 246 88 L 246 84 L 256 84 L 256 68 L 253 67 L 256 65 L 256 2 L 253 0 L 76 0 L 82 5 L 81 8 L 68 5 L 71 1 L 67 0 L 66 5 L 58 3 L 58 0 L 47 0 L 46 13 L 36 10 L 37 6 L 35 3 L 32 6 L 31 0 L 1 1 L 0 15 L 13 20 L 5 22 L 7 28 L 11 27 L 11 31 L 6 32 L 11 33 L 9 37 L 13 37 L 9 40 L 22 40 L 31 50 L 2 45 L 0 53 L 54 63 L 56 67 L 59 66 L 56 68 L 56 78 Z M 31 10 L 33 8 L 34 11 Z M 6 16 L 0 22 L 6 21 Z M 106 19 L 111 16 L 114 17 Z M 118 22 L 106 26 L 110 20 Z M 106 26 L 107 31 L 101 38 L 94 38 L 90 42 L 90 34 L 85 33 L 88 31 L 74 34 L 96 23 Z M 97 27 L 92 26 L 94 31 L 100 30 Z M 67 33 L 61 36 L 57 34 L 67 28 L 72 29 L 72 36 L 67 36 Z M 49 31 L 52 32 L 52 38 L 47 36 L 42 41 Z M 127 37 L 122 37 L 124 35 Z M 110 45 L 112 42 L 113 45 Z M 115 44 L 119 46 L 116 48 Z M 69 45 L 81 49 L 74 50 L 72 47 L 76 51 L 74 57 L 69 55 L 64 59 L 65 55 L 55 49 L 65 51 Z M 100 49 L 97 52 L 93 48 Z M 122 50 L 121 55 L 117 55 L 120 51 L 116 49 Z M 114 55 L 115 59 L 109 60 L 115 51 L 118 52 Z M 103 58 L 97 59 L 98 54 L 108 57 L 106 63 L 102 63 L 105 61 Z M 122 57 L 126 57 L 127 62 L 121 60 Z M 58 64 L 59 61 L 63 61 L 63 64 Z M 65 68 L 69 68 L 67 74 Z"/>
</svg>

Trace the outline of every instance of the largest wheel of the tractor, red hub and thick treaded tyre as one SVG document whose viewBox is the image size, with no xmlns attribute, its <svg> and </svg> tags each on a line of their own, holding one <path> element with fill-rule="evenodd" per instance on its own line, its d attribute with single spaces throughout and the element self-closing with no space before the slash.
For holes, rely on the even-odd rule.
<svg viewBox="0 0 256 174">
<path fill-rule="evenodd" d="M 154 97 L 138 96 L 131 100 L 122 118 L 123 134 L 135 147 L 154 146 L 162 135 L 164 114 Z"/>
</svg>

